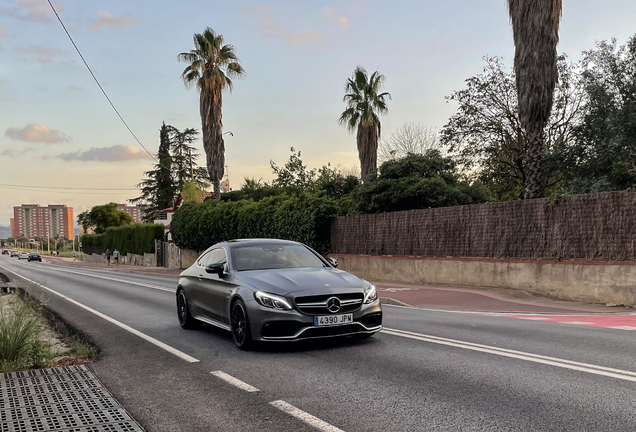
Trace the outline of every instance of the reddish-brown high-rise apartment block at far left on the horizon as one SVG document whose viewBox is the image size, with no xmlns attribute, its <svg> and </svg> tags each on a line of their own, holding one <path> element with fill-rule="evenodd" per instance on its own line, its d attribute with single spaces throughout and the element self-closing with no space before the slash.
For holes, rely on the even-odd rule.
<svg viewBox="0 0 636 432">
<path fill-rule="evenodd" d="M 73 238 L 73 208 L 65 204 L 40 207 L 39 204 L 22 204 L 13 207 L 11 236 Z"/>
</svg>

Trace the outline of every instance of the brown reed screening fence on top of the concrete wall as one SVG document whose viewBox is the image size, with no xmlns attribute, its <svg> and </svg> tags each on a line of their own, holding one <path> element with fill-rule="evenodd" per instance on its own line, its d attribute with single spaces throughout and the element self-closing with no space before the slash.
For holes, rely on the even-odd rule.
<svg viewBox="0 0 636 432">
<path fill-rule="evenodd" d="M 334 218 L 334 254 L 636 259 L 636 191 Z"/>
</svg>

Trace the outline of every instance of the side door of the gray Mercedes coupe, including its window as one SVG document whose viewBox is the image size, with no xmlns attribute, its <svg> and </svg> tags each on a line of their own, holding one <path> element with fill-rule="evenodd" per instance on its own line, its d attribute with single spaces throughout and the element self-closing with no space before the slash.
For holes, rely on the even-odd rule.
<svg viewBox="0 0 636 432">
<path fill-rule="evenodd" d="M 225 248 L 218 247 L 212 249 L 210 253 L 207 254 L 207 257 L 205 265 L 199 268 L 200 273 L 198 275 L 201 308 L 207 318 L 227 323 L 228 319 L 226 317 L 225 306 L 230 297 L 233 284 L 228 282 L 227 279 L 229 278 L 227 275 L 219 276 L 218 274 L 207 273 L 205 271 L 205 266 L 210 264 L 227 263 L 227 252 Z"/>
</svg>

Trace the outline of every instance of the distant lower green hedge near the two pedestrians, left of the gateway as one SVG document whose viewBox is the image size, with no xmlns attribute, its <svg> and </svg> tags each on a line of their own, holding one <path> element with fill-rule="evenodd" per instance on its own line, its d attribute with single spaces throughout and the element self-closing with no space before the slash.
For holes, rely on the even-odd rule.
<svg viewBox="0 0 636 432">
<path fill-rule="evenodd" d="M 104 253 L 115 248 L 122 255 L 133 253 L 143 255 L 155 251 L 155 240 L 163 239 L 164 226 L 156 224 L 134 224 L 106 228 L 104 234 L 82 236 L 82 251 Z"/>
</svg>

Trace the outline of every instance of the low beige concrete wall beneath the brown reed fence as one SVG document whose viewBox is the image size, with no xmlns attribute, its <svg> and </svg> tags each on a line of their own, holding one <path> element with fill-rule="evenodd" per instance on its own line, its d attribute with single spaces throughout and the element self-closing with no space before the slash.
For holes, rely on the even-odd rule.
<svg viewBox="0 0 636 432">
<path fill-rule="evenodd" d="M 563 300 L 636 306 L 633 262 L 331 256 L 340 269 L 367 280 L 512 288 Z"/>
</svg>

